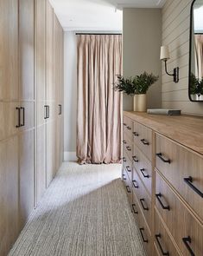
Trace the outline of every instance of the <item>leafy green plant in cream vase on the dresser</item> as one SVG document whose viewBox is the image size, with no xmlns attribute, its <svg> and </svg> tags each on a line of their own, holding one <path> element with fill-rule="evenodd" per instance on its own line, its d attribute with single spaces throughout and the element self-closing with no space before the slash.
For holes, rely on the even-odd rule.
<svg viewBox="0 0 203 256">
<path fill-rule="evenodd" d="M 117 82 L 114 84 L 114 89 L 119 92 L 124 92 L 126 95 L 134 96 L 134 111 L 146 112 L 147 110 L 147 91 L 150 86 L 158 81 L 159 76 L 143 72 L 141 75 L 136 75 L 130 78 L 124 78 L 122 75 L 117 75 Z"/>
</svg>

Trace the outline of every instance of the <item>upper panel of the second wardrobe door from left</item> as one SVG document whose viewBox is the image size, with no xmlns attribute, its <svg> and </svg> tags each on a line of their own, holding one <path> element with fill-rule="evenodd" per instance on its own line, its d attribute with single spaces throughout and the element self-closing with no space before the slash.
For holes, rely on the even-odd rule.
<svg viewBox="0 0 203 256">
<path fill-rule="evenodd" d="M 20 100 L 34 100 L 34 0 L 19 0 Z"/>
</svg>

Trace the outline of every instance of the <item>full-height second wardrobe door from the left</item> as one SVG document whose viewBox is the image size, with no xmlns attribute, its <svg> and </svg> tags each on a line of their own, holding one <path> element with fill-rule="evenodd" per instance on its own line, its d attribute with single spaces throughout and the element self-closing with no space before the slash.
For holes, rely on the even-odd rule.
<svg viewBox="0 0 203 256">
<path fill-rule="evenodd" d="M 35 3 L 19 0 L 19 98 L 22 128 L 19 135 L 20 225 L 34 209 L 35 179 Z"/>
</svg>

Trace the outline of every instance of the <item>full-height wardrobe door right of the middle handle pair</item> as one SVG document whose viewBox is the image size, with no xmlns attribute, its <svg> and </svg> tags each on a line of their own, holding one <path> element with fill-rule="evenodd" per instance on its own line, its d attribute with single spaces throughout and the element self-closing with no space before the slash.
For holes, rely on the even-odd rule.
<svg viewBox="0 0 203 256">
<path fill-rule="evenodd" d="M 54 10 L 48 0 L 46 14 L 46 105 L 48 108 L 48 118 L 46 119 L 46 178 L 48 187 L 54 177 Z"/>
</svg>

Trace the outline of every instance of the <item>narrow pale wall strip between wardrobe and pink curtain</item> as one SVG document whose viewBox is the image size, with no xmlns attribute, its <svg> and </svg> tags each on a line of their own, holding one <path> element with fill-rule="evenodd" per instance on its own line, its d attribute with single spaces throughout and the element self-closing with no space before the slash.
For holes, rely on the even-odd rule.
<svg viewBox="0 0 203 256">
<path fill-rule="evenodd" d="M 77 38 L 64 34 L 64 160 L 76 160 Z"/>
</svg>

